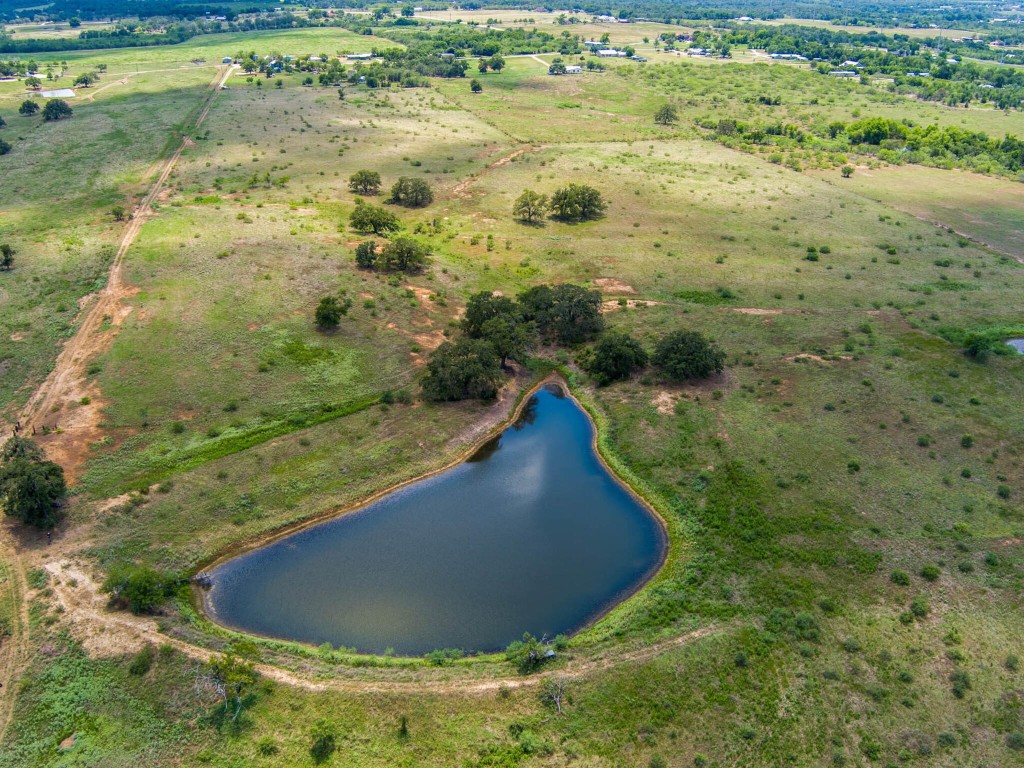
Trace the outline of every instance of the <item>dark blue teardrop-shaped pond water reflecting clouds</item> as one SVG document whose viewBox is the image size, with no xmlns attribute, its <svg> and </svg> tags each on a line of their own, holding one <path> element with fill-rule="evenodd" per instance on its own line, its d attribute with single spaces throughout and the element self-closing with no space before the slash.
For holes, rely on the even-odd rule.
<svg viewBox="0 0 1024 768">
<path fill-rule="evenodd" d="M 488 651 L 580 629 L 646 581 L 665 534 L 551 385 L 469 461 L 212 571 L 207 609 L 360 651 Z"/>
</svg>

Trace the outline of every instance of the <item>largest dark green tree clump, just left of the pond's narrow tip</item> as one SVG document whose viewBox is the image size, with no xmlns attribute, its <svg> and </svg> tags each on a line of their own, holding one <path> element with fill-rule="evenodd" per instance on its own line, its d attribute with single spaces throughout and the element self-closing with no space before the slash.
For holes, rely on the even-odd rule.
<svg viewBox="0 0 1024 768">
<path fill-rule="evenodd" d="M 422 386 L 432 400 L 489 399 L 508 360 L 522 360 L 539 338 L 578 344 L 604 328 L 601 294 L 581 286 L 536 286 L 517 300 L 489 292 L 466 305 L 463 335 L 430 355 Z"/>
</svg>

